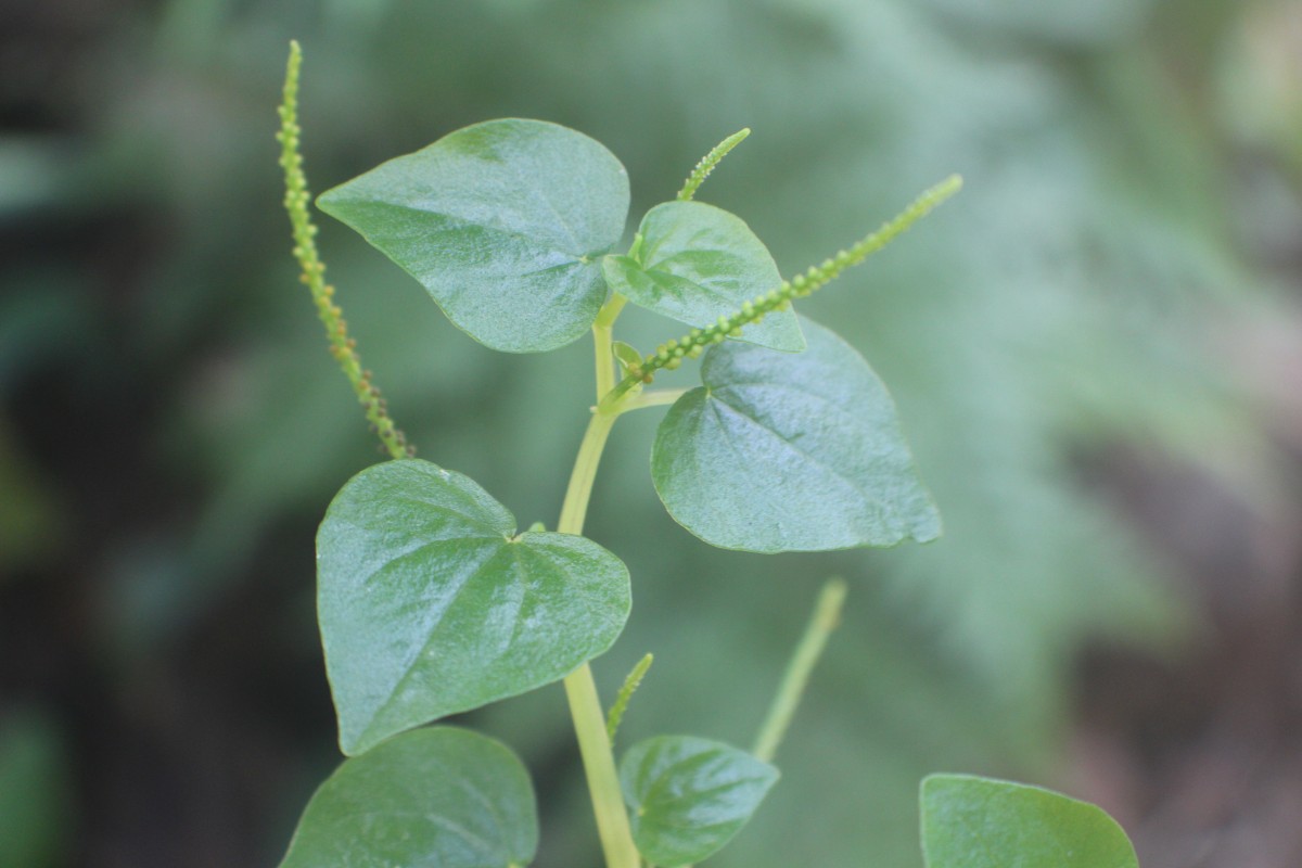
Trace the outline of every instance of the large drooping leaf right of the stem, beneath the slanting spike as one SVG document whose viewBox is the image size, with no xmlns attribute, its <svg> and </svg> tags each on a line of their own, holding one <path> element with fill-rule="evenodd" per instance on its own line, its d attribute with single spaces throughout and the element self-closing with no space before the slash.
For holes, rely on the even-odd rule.
<svg viewBox="0 0 1302 868">
<path fill-rule="evenodd" d="M 852 346 L 802 318 L 798 355 L 721 344 L 704 388 L 669 409 L 651 475 L 673 518 L 747 552 L 927 541 L 940 515 L 885 387 Z"/>
</svg>

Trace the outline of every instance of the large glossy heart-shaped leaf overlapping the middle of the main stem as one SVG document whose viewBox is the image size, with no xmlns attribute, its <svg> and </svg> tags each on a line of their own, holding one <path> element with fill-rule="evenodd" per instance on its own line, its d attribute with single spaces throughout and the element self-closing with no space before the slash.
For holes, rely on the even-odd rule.
<svg viewBox="0 0 1302 868">
<path fill-rule="evenodd" d="M 629 571 L 426 461 L 363 470 L 316 535 L 318 614 L 345 753 L 564 678 L 615 642 Z"/>
</svg>

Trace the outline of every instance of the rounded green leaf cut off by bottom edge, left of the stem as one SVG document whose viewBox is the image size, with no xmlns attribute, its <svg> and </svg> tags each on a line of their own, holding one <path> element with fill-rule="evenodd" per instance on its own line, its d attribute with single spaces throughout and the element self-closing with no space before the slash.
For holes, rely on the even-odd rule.
<svg viewBox="0 0 1302 868">
<path fill-rule="evenodd" d="M 529 772 L 500 742 L 440 726 L 346 760 L 280 868 L 519 868 L 538 848 Z"/>
</svg>

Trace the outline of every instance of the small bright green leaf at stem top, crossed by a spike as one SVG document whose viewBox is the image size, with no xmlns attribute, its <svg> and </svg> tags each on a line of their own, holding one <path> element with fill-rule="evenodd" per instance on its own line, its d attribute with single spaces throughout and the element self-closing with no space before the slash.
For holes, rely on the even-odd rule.
<svg viewBox="0 0 1302 868">
<path fill-rule="evenodd" d="M 706 328 L 783 276 L 768 247 L 741 217 L 700 202 L 665 202 L 642 219 L 638 258 L 607 256 L 605 281 L 634 305 Z M 769 314 L 741 340 L 775 350 L 805 349 L 792 311 Z"/>
</svg>

